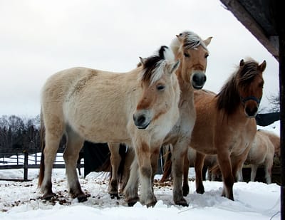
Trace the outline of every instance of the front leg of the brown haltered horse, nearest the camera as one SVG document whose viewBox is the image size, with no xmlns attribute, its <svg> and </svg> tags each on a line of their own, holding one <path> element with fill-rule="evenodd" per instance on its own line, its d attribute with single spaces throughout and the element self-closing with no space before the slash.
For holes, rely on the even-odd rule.
<svg viewBox="0 0 285 220">
<path fill-rule="evenodd" d="M 217 160 L 224 182 L 222 196 L 234 200 L 234 194 L 232 191 L 232 187 L 234 186 L 234 176 L 232 175 L 232 163 L 229 158 L 229 151 L 222 150 L 222 152 L 218 152 Z"/>
</svg>

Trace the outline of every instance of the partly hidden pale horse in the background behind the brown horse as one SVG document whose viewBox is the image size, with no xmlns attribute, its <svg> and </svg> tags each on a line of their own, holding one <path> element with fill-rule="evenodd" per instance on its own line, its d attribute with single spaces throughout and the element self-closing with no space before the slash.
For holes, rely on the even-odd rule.
<svg viewBox="0 0 285 220">
<path fill-rule="evenodd" d="M 271 169 L 273 167 L 274 154 L 280 156 L 280 137 L 266 130 L 257 130 L 252 147 L 249 150 L 246 164 L 250 164 L 252 172 L 250 180 L 254 182 L 257 168 L 264 164 L 265 179 L 271 184 Z M 242 172 L 241 172 L 242 174 Z"/>
</svg>

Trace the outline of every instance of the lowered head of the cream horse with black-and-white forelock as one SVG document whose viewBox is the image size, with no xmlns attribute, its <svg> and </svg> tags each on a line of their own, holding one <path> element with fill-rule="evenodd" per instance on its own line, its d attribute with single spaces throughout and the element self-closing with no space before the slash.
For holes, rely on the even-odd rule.
<svg viewBox="0 0 285 220">
<path fill-rule="evenodd" d="M 174 73 L 180 61 L 166 60 L 161 54 L 140 58 L 140 61 L 142 95 L 133 114 L 133 120 L 136 127 L 146 129 L 152 121 L 169 110 L 178 110 L 180 88 Z"/>
</svg>

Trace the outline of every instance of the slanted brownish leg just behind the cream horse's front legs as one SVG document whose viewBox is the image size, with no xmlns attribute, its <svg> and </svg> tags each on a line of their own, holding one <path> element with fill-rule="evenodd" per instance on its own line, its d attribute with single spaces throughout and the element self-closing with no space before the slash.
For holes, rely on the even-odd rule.
<svg viewBox="0 0 285 220">
<path fill-rule="evenodd" d="M 125 189 L 125 186 L 128 183 L 128 179 L 130 177 L 130 166 L 132 165 L 135 159 L 135 151 L 133 148 L 128 147 L 128 152 L 125 155 L 125 163 L 123 169 L 123 177 L 120 179 L 120 193 L 122 193 Z"/>
</svg>

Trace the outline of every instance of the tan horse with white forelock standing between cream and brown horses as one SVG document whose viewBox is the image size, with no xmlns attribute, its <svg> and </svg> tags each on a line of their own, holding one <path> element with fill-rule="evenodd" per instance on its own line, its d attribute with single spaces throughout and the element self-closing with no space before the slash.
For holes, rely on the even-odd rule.
<svg viewBox="0 0 285 220">
<path fill-rule="evenodd" d="M 175 54 L 175 59 L 179 59 L 181 65 L 176 70 L 176 75 L 180 84 L 179 119 L 172 130 L 167 134 L 163 145 L 172 145 L 172 175 L 173 200 L 175 204 L 188 206 L 182 194 L 182 166 L 183 158 L 187 154 L 192 128 L 195 124 L 194 90 L 202 89 L 206 81 L 205 70 L 207 68 L 207 57 L 209 51 L 207 46 L 212 37 L 200 38 L 197 33 L 184 31 L 176 36 L 170 44 L 170 48 Z M 156 152 L 155 167 L 157 169 L 157 159 L 159 152 Z M 136 159 L 135 159 L 136 160 Z M 130 177 L 125 186 L 124 194 L 129 205 L 138 201 L 138 163 L 134 160 L 130 167 Z M 153 181 L 153 177 L 152 177 Z"/>
</svg>

